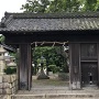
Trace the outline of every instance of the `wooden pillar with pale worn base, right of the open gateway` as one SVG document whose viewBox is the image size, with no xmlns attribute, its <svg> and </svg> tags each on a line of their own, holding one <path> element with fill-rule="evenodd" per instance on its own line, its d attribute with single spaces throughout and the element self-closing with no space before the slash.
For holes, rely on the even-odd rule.
<svg viewBox="0 0 99 99">
<path fill-rule="evenodd" d="M 80 89 L 80 44 L 69 44 L 69 58 L 70 58 L 70 89 Z"/>
</svg>

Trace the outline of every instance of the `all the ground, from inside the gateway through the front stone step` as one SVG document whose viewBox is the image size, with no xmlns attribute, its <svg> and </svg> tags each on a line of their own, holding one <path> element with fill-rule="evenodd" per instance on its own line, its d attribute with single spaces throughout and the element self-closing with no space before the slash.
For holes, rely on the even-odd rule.
<svg viewBox="0 0 99 99">
<path fill-rule="evenodd" d="M 99 88 L 84 87 L 80 90 L 70 90 L 67 81 L 63 80 L 33 80 L 32 89 L 19 90 L 11 99 L 99 99 Z"/>
</svg>

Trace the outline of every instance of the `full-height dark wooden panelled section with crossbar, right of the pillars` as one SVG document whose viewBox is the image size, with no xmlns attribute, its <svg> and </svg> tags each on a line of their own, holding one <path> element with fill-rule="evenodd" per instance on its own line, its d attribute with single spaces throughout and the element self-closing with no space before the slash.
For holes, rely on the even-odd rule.
<svg viewBox="0 0 99 99">
<path fill-rule="evenodd" d="M 97 85 L 98 82 L 98 55 L 97 44 L 81 44 L 81 82 L 85 85 Z"/>
</svg>

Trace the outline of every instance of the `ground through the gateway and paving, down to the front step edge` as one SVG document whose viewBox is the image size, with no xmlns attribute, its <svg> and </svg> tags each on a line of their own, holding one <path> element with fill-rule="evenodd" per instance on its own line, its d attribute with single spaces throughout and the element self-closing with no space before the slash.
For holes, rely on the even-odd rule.
<svg viewBox="0 0 99 99">
<path fill-rule="evenodd" d="M 81 90 L 70 90 L 67 81 L 63 80 L 34 80 L 31 91 L 18 91 L 18 95 L 38 94 L 99 94 L 96 86 L 84 87 Z"/>
</svg>

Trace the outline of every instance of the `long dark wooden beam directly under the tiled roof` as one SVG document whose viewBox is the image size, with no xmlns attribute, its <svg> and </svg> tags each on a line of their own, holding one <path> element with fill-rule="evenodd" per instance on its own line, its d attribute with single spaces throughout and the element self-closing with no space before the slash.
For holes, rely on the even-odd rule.
<svg viewBox="0 0 99 99">
<path fill-rule="evenodd" d="M 4 34 L 7 44 L 25 44 L 33 42 L 99 42 L 97 31 L 51 31 L 33 33 L 11 33 Z"/>
</svg>

